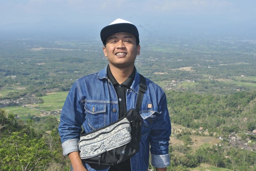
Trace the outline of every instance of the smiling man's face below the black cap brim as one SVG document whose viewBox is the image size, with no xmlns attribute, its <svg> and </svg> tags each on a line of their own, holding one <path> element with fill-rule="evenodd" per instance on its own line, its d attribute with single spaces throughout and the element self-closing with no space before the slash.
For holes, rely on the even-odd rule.
<svg viewBox="0 0 256 171">
<path fill-rule="evenodd" d="M 139 50 L 136 37 L 130 33 L 112 34 L 106 39 L 106 47 L 103 47 L 109 64 L 117 68 L 133 67 Z"/>
</svg>

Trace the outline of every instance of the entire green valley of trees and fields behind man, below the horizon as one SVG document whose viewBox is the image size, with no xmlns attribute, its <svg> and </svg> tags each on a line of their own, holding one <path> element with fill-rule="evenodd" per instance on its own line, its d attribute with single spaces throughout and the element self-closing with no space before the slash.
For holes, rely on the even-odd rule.
<svg viewBox="0 0 256 171">
<path fill-rule="evenodd" d="M 166 92 L 168 170 L 256 170 L 256 40 L 140 44 L 136 69 Z M 1 39 L 0 52 L 0 170 L 70 170 L 58 119 L 74 81 L 108 63 L 100 40 Z"/>
</svg>

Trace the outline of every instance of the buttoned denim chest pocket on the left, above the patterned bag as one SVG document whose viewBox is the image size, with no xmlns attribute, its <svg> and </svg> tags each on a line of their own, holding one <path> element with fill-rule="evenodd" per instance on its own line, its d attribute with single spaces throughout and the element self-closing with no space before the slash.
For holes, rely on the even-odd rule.
<svg viewBox="0 0 256 171">
<path fill-rule="evenodd" d="M 85 120 L 93 130 L 106 126 L 106 103 L 85 102 Z"/>
</svg>

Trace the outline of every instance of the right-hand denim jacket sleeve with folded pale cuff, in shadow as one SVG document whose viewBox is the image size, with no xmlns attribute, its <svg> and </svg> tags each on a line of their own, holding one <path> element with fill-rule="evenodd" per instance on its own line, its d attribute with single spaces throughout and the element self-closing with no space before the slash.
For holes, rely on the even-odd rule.
<svg viewBox="0 0 256 171">
<path fill-rule="evenodd" d="M 157 116 L 150 132 L 150 153 L 153 167 L 163 168 L 170 165 L 169 140 L 171 135 L 171 120 L 167 108 L 166 95 L 160 98 L 159 109 L 161 113 Z"/>
</svg>

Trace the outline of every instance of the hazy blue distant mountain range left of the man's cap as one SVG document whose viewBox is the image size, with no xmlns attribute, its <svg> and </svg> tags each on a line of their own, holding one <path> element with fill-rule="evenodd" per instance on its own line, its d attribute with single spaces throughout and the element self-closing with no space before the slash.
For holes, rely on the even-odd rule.
<svg viewBox="0 0 256 171">
<path fill-rule="evenodd" d="M 56 36 L 99 38 L 97 23 L 73 23 L 61 20 L 45 19 L 37 23 L 13 23 L 0 26 L 2 36 Z"/>
</svg>

